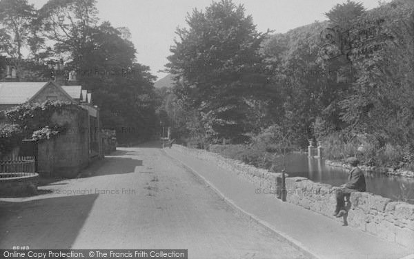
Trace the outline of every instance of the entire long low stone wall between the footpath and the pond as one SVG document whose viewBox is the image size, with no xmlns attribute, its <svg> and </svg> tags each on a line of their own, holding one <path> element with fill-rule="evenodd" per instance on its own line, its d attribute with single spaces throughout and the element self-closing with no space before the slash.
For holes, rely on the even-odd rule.
<svg viewBox="0 0 414 259">
<path fill-rule="evenodd" d="M 277 181 L 280 179 L 280 173 L 270 173 L 201 149 L 176 144 L 172 145 L 172 148 L 215 163 L 262 188 L 279 189 L 280 182 Z M 335 210 L 337 189 L 339 188 L 312 182 L 307 178 L 286 178 L 286 202 L 326 215 L 337 220 L 338 224 L 342 224 L 344 220 L 351 227 L 414 249 L 414 204 L 393 202 L 372 193 L 355 192 L 351 194 L 351 204 L 347 206 L 348 215 L 344 218 L 335 218 L 332 213 Z"/>
</svg>

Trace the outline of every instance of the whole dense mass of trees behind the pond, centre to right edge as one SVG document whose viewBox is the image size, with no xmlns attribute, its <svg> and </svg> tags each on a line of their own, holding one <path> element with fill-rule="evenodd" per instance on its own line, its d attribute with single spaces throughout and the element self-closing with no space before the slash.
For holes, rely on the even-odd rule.
<svg viewBox="0 0 414 259">
<path fill-rule="evenodd" d="M 176 131 L 199 141 L 288 125 L 300 145 L 335 132 L 408 143 L 413 3 L 395 0 L 366 11 L 347 1 L 325 15 L 329 21 L 267 35 L 231 1 L 193 10 L 170 49 L 175 88 L 164 114 Z M 327 39 L 329 58 L 322 52 Z"/>
</svg>

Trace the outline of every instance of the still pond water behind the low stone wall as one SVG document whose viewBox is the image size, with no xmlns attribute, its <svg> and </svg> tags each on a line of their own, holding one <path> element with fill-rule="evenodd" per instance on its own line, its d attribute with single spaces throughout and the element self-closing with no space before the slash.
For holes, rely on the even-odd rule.
<svg viewBox="0 0 414 259">
<path fill-rule="evenodd" d="M 282 158 L 279 169 L 282 169 Z M 328 166 L 325 160 L 308 157 L 304 153 L 286 155 L 286 173 L 289 177 L 302 176 L 313 182 L 340 186 L 348 182 L 349 171 Z M 364 172 L 366 191 L 393 200 L 403 200 L 414 204 L 414 178 L 388 176 L 382 173 Z"/>
</svg>

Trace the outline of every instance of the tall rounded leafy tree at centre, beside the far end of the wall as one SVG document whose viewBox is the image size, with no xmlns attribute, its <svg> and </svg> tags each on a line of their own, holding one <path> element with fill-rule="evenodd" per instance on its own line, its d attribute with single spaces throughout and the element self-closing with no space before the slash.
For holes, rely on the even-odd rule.
<svg viewBox="0 0 414 259">
<path fill-rule="evenodd" d="M 268 98 L 263 57 L 264 34 L 257 32 L 244 6 L 230 0 L 213 2 L 205 12 L 194 9 L 188 28 L 178 28 L 166 65 L 175 77 L 175 94 L 188 109 L 201 113 L 210 141 L 233 140 L 253 125 L 250 101 Z M 270 99 L 270 98 L 269 98 Z"/>
</svg>

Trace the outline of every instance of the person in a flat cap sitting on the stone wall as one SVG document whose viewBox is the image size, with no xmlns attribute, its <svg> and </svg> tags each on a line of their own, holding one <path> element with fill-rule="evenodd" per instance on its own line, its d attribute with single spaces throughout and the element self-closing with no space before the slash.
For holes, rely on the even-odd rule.
<svg viewBox="0 0 414 259">
<path fill-rule="evenodd" d="M 357 158 L 349 157 L 346 162 L 351 167 L 351 172 L 348 176 L 348 183 L 343 184 L 341 189 L 339 189 L 336 193 L 337 204 L 333 215 L 337 218 L 340 218 L 346 214 L 344 197 L 349 199 L 349 196 L 354 191 L 365 191 L 366 188 L 364 173 L 361 169 L 359 169 L 359 167 L 357 167 L 359 164 Z"/>
</svg>

